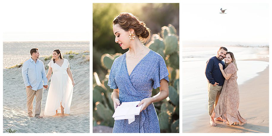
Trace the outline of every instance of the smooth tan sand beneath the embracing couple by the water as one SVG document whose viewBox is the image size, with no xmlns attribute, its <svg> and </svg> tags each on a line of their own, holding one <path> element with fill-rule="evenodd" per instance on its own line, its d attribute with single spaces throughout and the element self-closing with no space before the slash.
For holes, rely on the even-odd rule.
<svg viewBox="0 0 272 136">
<path fill-rule="evenodd" d="M 250 59 L 266 61 L 269 58 Z M 239 112 L 247 120 L 243 126 L 227 126 L 216 121 L 217 126 L 210 126 L 208 113 L 203 113 L 193 122 L 190 130 L 184 133 L 268 133 L 269 132 L 269 66 L 245 83 L 239 84 Z M 238 77 L 239 78 L 239 77 Z M 183 124 L 184 127 L 185 124 Z"/>
</svg>

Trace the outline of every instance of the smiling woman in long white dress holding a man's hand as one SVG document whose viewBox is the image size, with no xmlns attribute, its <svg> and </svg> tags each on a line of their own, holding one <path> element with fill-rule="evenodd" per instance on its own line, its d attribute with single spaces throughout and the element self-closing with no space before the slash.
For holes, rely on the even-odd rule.
<svg viewBox="0 0 272 136">
<path fill-rule="evenodd" d="M 67 59 L 62 58 L 59 49 L 53 51 L 52 58 L 48 64 L 48 73 L 46 75 L 48 81 L 51 75 L 52 78 L 45 103 L 44 115 L 53 116 L 61 113 L 61 117 L 64 117 L 64 113 L 70 114 L 75 81 L 69 62 Z"/>
</svg>

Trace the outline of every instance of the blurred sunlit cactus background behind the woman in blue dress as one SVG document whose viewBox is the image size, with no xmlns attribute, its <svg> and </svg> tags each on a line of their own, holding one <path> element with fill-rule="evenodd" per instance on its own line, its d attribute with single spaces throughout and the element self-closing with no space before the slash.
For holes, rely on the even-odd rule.
<svg viewBox="0 0 272 136">
<path fill-rule="evenodd" d="M 110 98 L 113 89 L 107 86 L 107 81 L 114 59 L 128 50 L 123 50 L 115 42 L 113 34 L 113 19 L 121 12 L 131 12 L 151 29 L 151 41 L 145 46 L 153 47 L 152 50 L 165 59 L 170 80 L 169 97 L 155 102 L 154 107 L 161 132 L 178 133 L 179 3 L 93 4 L 93 132 L 111 133 L 113 130 L 114 108 Z M 159 88 L 153 89 L 152 96 L 157 93 Z"/>
</svg>

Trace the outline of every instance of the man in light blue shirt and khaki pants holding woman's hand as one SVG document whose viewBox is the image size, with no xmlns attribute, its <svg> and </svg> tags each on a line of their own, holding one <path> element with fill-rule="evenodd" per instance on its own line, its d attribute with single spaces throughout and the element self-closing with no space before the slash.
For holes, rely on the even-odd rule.
<svg viewBox="0 0 272 136">
<path fill-rule="evenodd" d="M 36 96 L 35 117 L 42 118 L 42 94 L 43 88 L 48 88 L 45 67 L 39 60 L 39 49 L 32 48 L 30 50 L 31 58 L 23 63 L 22 75 L 26 86 L 26 105 L 28 116 L 33 117 L 33 100 Z"/>
</svg>

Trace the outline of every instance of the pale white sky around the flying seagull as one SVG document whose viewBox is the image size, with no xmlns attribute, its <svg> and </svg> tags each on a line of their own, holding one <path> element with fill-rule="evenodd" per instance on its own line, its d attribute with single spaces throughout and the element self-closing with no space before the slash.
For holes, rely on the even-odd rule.
<svg viewBox="0 0 272 136">
<path fill-rule="evenodd" d="M 184 41 L 269 43 L 268 4 L 183 3 L 180 8 Z M 219 14 L 220 8 L 227 14 Z"/>
</svg>

